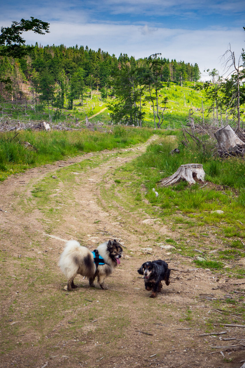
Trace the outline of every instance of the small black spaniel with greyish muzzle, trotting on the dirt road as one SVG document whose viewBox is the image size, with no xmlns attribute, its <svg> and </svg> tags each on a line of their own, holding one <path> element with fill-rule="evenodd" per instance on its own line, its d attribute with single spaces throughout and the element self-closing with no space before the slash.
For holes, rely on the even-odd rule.
<svg viewBox="0 0 245 368">
<path fill-rule="evenodd" d="M 138 269 L 140 275 L 144 275 L 146 290 L 152 290 L 150 298 L 156 298 L 157 292 L 160 293 L 163 287 L 161 281 L 164 280 L 166 285 L 169 285 L 169 276 L 171 269 L 168 268 L 168 264 L 161 259 L 157 261 L 145 262 Z"/>
</svg>

